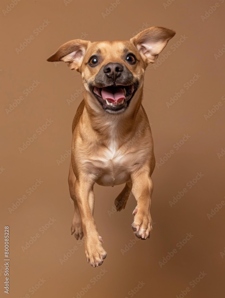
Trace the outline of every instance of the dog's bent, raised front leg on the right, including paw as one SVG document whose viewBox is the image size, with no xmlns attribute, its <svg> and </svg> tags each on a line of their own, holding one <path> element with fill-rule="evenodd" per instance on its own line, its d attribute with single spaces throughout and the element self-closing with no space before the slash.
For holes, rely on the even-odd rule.
<svg viewBox="0 0 225 298">
<path fill-rule="evenodd" d="M 151 195 L 153 192 L 153 182 L 146 172 L 135 172 L 131 175 L 133 183 L 132 193 L 137 200 L 137 206 L 134 209 L 134 221 L 132 229 L 137 238 L 147 239 L 151 236 Z"/>
</svg>

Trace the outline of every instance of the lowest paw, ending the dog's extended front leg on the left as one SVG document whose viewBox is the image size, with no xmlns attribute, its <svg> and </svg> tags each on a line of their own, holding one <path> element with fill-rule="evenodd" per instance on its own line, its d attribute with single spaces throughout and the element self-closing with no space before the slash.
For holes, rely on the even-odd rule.
<svg viewBox="0 0 225 298">
<path fill-rule="evenodd" d="M 94 239 L 90 237 L 84 242 L 87 262 L 93 267 L 102 265 L 103 260 L 106 258 L 106 252 L 103 249 L 101 242 L 103 243 L 103 240 L 100 236 Z"/>
</svg>

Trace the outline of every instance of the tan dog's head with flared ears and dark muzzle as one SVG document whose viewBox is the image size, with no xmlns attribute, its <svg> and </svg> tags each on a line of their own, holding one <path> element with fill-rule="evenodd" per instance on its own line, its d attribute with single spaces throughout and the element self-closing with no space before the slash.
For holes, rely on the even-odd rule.
<svg viewBox="0 0 225 298">
<path fill-rule="evenodd" d="M 108 113 L 128 108 L 144 81 L 149 63 L 154 63 L 175 31 L 151 27 L 129 41 L 68 41 L 47 61 L 64 61 L 82 75 L 91 100 Z"/>
</svg>

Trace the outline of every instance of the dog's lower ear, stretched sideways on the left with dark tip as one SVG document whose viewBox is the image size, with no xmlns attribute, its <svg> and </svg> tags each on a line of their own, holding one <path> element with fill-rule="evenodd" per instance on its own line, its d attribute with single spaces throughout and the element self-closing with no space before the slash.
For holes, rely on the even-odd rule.
<svg viewBox="0 0 225 298">
<path fill-rule="evenodd" d="M 47 59 L 47 61 L 64 61 L 71 69 L 76 69 L 80 72 L 80 66 L 88 47 L 88 43 L 90 43 L 90 41 L 82 39 L 68 41 L 60 46 L 59 49 Z"/>
</svg>

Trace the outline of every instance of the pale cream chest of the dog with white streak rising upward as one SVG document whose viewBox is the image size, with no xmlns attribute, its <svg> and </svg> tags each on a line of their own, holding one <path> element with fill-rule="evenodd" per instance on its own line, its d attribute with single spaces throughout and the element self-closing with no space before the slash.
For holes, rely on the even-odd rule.
<svg viewBox="0 0 225 298">
<path fill-rule="evenodd" d="M 93 180 L 102 186 L 120 185 L 128 181 L 131 173 L 138 170 L 146 161 L 147 151 L 135 142 L 124 143 L 118 146 L 117 126 L 108 126 L 107 145 L 102 146 L 94 143 L 86 159 L 83 161 L 82 169 L 91 175 Z M 91 154 L 90 154 L 91 153 Z"/>
</svg>

